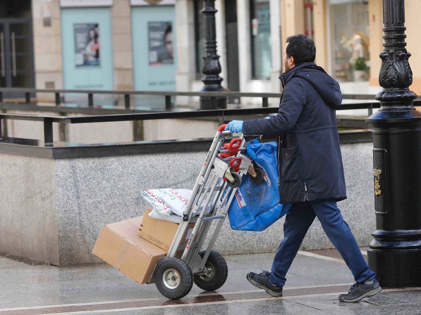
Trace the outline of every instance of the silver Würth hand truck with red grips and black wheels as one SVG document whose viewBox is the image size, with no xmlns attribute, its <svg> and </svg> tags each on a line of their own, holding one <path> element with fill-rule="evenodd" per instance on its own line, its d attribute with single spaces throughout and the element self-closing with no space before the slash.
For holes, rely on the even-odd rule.
<svg viewBox="0 0 421 315">
<path fill-rule="evenodd" d="M 226 218 L 229 205 L 240 186 L 241 177 L 249 174 L 254 183 L 263 180 L 263 172 L 241 152 L 245 139 L 240 137 L 224 144 L 226 124 L 219 127 L 197 177 L 192 195 L 187 203 L 183 221 L 168 250 L 167 256 L 158 260 L 148 284 L 155 283 L 160 293 L 168 299 L 181 299 L 192 289 L 193 283 L 204 291 L 220 288 L 228 276 L 228 267 L 221 254 L 212 250 L 216 237 Z M 257 167 L 256 167 L 257 166 Z M 210 205 L 211 211 L 205 214 Z M 200 215 L 193 215 L 201 209 Z M 216 213 L 219 212 L 219 215 Z M 217 221 L 216 229 L 206 250 L 201 250 L 210 225 Z M 184 236 L 189 223 L 195 222 L 187 244 Z"/>
</svg>

